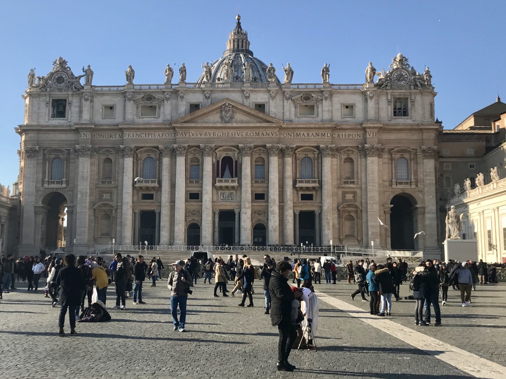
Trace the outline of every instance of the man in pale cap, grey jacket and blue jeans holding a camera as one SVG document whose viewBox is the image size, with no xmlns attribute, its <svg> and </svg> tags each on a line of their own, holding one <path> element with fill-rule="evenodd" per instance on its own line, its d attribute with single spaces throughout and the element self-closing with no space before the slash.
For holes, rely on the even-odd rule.
<svg viewBox="0 0 506 379">
<path fill-rule="evenodd" d="M 188 294 L 192 294 L 190 287 L 193 287 L 193 279 L 183 266 L 183 260 L 174 263 L 174 271 L 168 275 L 167 288 L 171 290 L 171 314 L 174 324 L 174 331 L 178 330 L 182 333 L 185 331 L 186 322 L 186 302 Z M 178 320 L 179 305 L 179 320 Z"/>
</svg>

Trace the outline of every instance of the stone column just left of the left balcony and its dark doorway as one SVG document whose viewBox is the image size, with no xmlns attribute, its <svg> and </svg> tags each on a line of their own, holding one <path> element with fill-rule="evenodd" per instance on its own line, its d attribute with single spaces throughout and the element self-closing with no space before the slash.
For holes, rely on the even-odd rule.
<svg viewBox="0 0 506 379">
<path fill-rule="evenodd" d="M 132 244 L 132 196 L 134 185 L 135 146 L 120 146 L 118 153 L 123 156 L 123 194 L 121 200 L 121 243 Z"/>
</svg>

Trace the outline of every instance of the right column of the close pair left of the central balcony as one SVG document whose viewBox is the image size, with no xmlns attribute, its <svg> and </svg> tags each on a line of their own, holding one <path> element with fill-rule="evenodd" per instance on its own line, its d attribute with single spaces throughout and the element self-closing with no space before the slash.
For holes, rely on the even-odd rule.
<svg viewBox="0 0 506 379">
<path fill-rule="evenodd" d="M 176 198 L 174 204 L 174 245 L 185 245 L 186 151 L 188 145 L 174 145 L 176 151 Z"/>
</svg>

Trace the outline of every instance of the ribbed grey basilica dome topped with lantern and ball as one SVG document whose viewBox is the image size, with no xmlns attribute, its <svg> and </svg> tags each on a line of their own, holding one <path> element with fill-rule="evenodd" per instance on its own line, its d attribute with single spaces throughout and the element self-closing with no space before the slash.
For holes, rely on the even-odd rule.
<svg viewBox="0 0 506 379">
<path fill-rule="evenodd" d="M 227 41 L 227 50 L 223 52 L 223 57 L 210 63 L 210 80 L 206 80 L 205 73 L 202 73 L 197 83 L 210 81 L 213 83 L 224 82 L 228 78 L 232 83 L 244 82 L 243 68 L 249 66 L 251 69 L 251 83 L 268 83 L 267 67 L 264 62 L 253 56 L 249 50 L 248 33 L 242 30 L 241 16 L 237 15 L 237 24 L 233 31 L 229 33 Z M 279 78 L 275 77 L 275 82 L 280 83 Z"/>
</svg>

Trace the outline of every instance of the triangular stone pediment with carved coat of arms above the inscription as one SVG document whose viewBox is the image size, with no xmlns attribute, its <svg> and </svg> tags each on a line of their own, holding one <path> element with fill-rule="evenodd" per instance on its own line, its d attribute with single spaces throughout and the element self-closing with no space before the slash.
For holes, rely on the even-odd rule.
<svg viewBox="0 0 506 379">
<path fill-rule="evenodd" d="M 280 126 L 281 120 L 271 117 L 265 113 L 256 111 L 231 99 L 223 99 L 219 102 L 192 112 L 172 122 L 173 126 L 178 125 L 258 125 Z"/>
</svg>

